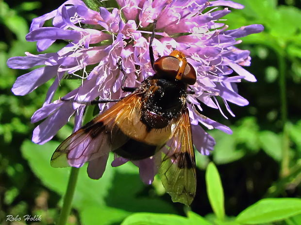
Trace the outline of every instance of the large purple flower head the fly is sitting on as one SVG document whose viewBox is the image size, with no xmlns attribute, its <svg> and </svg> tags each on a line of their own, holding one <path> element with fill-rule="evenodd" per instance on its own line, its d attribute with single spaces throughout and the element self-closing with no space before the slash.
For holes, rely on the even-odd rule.
<svg viewBox="0 0 301 225">
<path fill-rule="evenodd" d="M 197 82 L 190 86 L 195 94 L 188 97 L 189 116 L 192 124 L 195 148 L 202 154 L 213 150 L 215 140 L 201 125 L 208 129 L 219 129 L 231 134 L 229 127 L 211 120 L 199 112 L 207 106 L 216 108 L 225 117 L 217 99 L 221 99 L 230 115 L 230 103 L 248 105 L 248 101 L 237 92 L 236 83 L 242 79 L 255 82 L 256 78 L 242 66 L 250 65 L 250 52 L 234 45 L 240 38 L 263 30 L 254 24 L 235 30 L 227 30 L 219 19 L 230 13 L 227 6 L 242 9 L 241 4 L 230 0 L 117 0 L 120 10 L 100 12 L 89 9 L 81 0 L 68 0 L 58 9 L 33 19 L 26 40 L 37 42 L 39 52 L 46 50 L 56 40 L 66 40 L 67 45 L 56 53 L 33 55 L 26 52 L 24 57 L 14 57 L 7 64 L 13 69 L 34 69 L 17 78 L 12 91 L 25 95 L 55 77 L 44 105 L 32 117 L 32 122 L 45 119 L 33 131 L 33 142 L 44 144 L 64 126 L 75 114 L 74 131 L 82 125 L 84 105 L 61 100 L 53 101 L 55 91 L 64 75 L 69 74 L 83 80 L 82 85 L 67 93 L 65 99 L 89 102 L 97 97 L 118 99 L 127 93 L 121 90 L 122 73 L 117 61 L 122 59 L 122 68 L 128 74 L 126 87 L 137 87 L 154 71 L 150 63 L 149 43 L 153 19 L 157 20 L 156 37 L 153 41 L 156 56 L 169 55 L 173 48 L 183 52 L 187 61 L 197 71 Z M 205 12 L 205 13 L 202 13 Z M 43 27 L 52 19 L 53 27 Z M 88 25 L 88 26 L 85 26 Z M 89 28 L 87 28 L 89 27 Z M 93 65 L 87 72 L 86 66 Z M 236 72 L 236 75 L 232 73 Z M 100 104 L 100 112 L 114 103 Z M 151 183 L 157 173 L 159 155 L 135 161 L 142 180 Z M 99 179 L 104 172 L 108 153 L 90 161 L 88 174 Z M 85 162 L 69 162 L 81 166 Z M 117 157 L 112 166 L 128 160 Z"/>
</svg>

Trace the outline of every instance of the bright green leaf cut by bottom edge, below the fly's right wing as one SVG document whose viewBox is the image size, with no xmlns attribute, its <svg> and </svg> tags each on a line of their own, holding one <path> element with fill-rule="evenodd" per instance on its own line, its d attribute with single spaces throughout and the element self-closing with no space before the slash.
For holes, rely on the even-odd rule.
<svg viewBox="0 0 301 225">
<path fill-rule="evenodd" d="M 191 225 L 187 218 L 173 214 L 134 213 L 121 225 Z"/>
</svg>

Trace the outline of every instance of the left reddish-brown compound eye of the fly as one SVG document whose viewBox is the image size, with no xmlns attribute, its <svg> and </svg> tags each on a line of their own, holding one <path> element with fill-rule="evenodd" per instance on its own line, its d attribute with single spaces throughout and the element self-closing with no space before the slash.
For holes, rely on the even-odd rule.
<svg viewBox="0 0 301 225">
<path fill-rule="evenodd" d="M 162 56 L 155 60 L 153 67 L 162 78 L 175 78 L 180 69 L 180 61 L 173 56 Z"/>
</svg>

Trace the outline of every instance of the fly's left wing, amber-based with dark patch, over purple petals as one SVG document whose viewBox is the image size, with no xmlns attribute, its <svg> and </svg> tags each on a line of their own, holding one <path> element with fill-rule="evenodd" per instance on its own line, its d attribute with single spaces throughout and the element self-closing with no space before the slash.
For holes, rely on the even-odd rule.
<svg viewBox="0 0 301 225">
<path fill-rule="evenodd" d="M 67 137 L 53 153 L 51 166 L 81 166 L 122 146 L 129 137 L 122 135 L 118 129 L 118 118 L 129 118 L 133 123 L 133 118 L 137 116 L 134 109 L 140 108 L 140 105 L 139 93 L 130 94 L 117 102 Z"/>
</svg>

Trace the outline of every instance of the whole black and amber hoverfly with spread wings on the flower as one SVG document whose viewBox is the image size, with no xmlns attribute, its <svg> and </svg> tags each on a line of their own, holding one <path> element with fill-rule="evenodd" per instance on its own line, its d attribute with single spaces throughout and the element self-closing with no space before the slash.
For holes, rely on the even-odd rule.
<svg viewBox="0 0 301 225">
<path fill-rule="evenodd" d="M 193 93 L 187 87 L 196 82 L 196 72 L 184 53 L 175 49 L 154 61 L 155 27 L 154 20 L 149 50 L 156 73 L 138 88 L 124 87 L 126 73 L 118 64 L 124 75 L 122 90 L 132 93 L 121 100 L 92 101 L 118 102 L 63 141 L 53 153 L 51 165 L 69 166 L 68 160 L 80 157 L 91 163 L 103 155 L 103 149 L 129 160 L 146 159 L 164 148 L 168 141 L 159 176 L 174 202 L 190 205 L 196 193 L 196 168 L 186 101 L 187 94 Z M 85 154 L 88 148 L 94 150 Z"/>
</svg>

